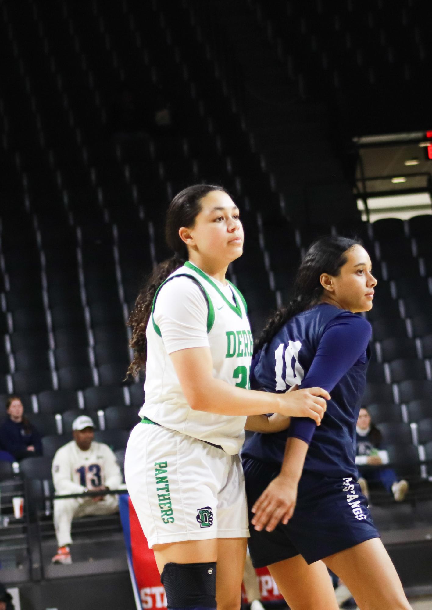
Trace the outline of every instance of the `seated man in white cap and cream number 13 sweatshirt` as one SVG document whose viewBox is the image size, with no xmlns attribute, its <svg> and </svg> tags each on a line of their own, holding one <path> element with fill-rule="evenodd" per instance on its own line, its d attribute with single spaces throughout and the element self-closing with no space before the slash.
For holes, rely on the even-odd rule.
<svg viewBox="0 0 432 610">
<path fill-rule="evenodd" d="M 52 460 L 52 481 L 57 495 L 118 489 L 121 472 L 115 455 L 108 445 L 93 440 L 94 424 L 88 415 L 79 415 L 72 424 L 73 440 L 57 450 Z M 56 528 L 56 564 L 72 562 L 69 545 L 72 544 L 72 520 L 85 515 L 110 515 L 118 511 L 115 495 L 65 498 L 54 500 L 54 526 Z"/>
</svg>

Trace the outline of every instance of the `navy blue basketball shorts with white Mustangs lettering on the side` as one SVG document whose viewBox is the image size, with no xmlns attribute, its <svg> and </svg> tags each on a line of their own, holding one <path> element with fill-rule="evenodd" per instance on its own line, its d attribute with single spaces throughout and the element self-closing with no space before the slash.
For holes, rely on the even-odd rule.
<svg viewBox="0 0 432 610">
<path fill-rule="evenodd" d="M 279 474 L 278 464 L 243 460 L 249 520 L 251 508 L 268 483 Z M 303 472 L 297 505 L 287 525 L 272 531 L 256 531 L 250 523 L 249 551 L 254 567 L 264 567 L 301 554 L 308 564 L 379 538 L 367 501 L 351 476 L 330 478 Z"/>
</svg>

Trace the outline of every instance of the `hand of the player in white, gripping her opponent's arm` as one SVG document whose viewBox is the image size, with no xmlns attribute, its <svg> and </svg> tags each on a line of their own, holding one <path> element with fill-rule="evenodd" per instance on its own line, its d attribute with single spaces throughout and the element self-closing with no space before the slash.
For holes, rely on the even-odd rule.
<svg viewBox="0 0 432 610">
<path fill-rule="evenodd" d="M 279 394 L 278 413 L 287 417 L 310 417 L 317 426 L 320 425 L 330 395 L 321 387 L 309 387 L 297 392 Z"/>
</svg>

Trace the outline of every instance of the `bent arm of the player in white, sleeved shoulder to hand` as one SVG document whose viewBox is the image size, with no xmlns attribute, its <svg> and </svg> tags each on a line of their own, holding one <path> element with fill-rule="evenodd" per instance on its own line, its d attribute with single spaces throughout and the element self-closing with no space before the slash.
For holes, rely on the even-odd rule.
<svg viewBox="0 0 432 610">
<path fill-rule="evenodd" d="M 159 328 L 182 392 L 193 410 L 218 415 L 280 413 L 320 422 L 329 399 L 325 390 L 310 388 L 288 396 L 247 390 L 247 370 L 242 387 L 236 387 L 238 378 L 232 383 L 214 378 L 207 303 L 189 278 L 177 278 L 162 287 L 154 306 L 153 323 Z"/>
</svg>

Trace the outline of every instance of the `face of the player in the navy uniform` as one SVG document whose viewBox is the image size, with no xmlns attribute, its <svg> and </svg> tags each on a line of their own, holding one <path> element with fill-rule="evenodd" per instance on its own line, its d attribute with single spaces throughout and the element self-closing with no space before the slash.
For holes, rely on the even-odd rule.
<svg viewBox="0 0 432 610">
<path fill-rule="evenodd" d="M 345 254 L 347 262 L 340 268 L 339 275 L 321 276 L 325 300 L 353 314 L 369 311 L 372 309 L 373 288 L 376 286 L 369 254 L 359 245 Z"/>
</svg>

